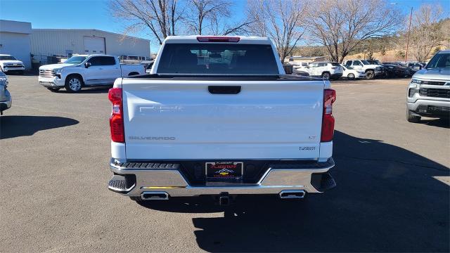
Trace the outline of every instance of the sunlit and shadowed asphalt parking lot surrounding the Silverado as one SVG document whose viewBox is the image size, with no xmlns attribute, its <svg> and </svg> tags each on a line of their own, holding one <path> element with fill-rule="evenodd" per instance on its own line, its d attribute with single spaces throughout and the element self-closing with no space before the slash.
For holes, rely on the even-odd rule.
<svg viewBox="0 0 450 253">
<path fill-rule="evenodd" d="M 449 252 L 449 122 L 406 122 L 408 79 L 333 82 L 338 186 L 305 201 L 141 206 L 112 193 L 108 89 L 10 76 L 1 252 Z"/>
</svg>

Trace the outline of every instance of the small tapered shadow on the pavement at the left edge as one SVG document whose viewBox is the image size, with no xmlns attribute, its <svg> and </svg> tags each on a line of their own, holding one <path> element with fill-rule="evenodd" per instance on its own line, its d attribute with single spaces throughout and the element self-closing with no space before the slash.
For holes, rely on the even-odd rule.
<svg viewBox="0 0 450 253">
<path fill-rule="evenodd" d="M 32 136 L 37 131 L 78 124 L 75 119 L 53 116 L 13 116 L 0 117 L 0 139 Z"/>
</svg>

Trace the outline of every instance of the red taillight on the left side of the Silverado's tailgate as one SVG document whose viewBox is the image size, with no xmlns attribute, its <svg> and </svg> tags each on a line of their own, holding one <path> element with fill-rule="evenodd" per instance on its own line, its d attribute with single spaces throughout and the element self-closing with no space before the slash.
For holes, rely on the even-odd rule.
<svg viewBox="0 0 450 253">
<path fill-rule="evenodd" d="M 111 141 L 125 142 L 122 88 L 110 89 L 108 98 L 113 103 L 110 117 Z"/>
</svg>

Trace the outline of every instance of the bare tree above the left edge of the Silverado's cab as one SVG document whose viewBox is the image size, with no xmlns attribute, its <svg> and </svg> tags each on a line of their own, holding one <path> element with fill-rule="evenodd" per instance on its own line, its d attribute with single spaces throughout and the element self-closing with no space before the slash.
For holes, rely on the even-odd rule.
<svg viewBox="0 0 450 253">
<path fill-rule="evenodd" d="M 112 0 L 110 12 L 129 22 L 127 30 L 150 29 L 160 43 L 176 34 L 182 13 L 176 0 Z"/>
</svg>

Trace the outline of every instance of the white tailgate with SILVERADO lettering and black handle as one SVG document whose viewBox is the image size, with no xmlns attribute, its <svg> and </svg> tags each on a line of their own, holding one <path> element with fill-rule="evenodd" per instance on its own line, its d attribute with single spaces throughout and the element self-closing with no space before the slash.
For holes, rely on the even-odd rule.
<svg viewBox="0 0 450 253">
<path fill-rule="evenodd" d="M 127 160 L 316 159 L 323 81 L 123 79 Z M 237 94 L 208 86 L 240 86 Z"/>
</svg>

